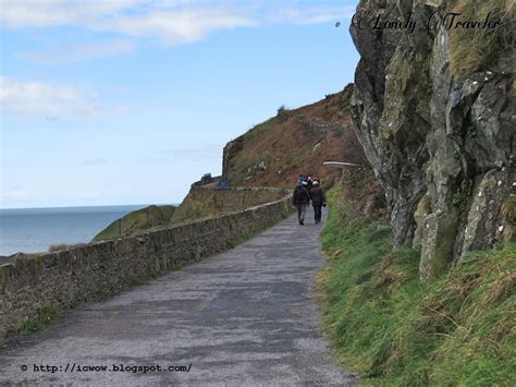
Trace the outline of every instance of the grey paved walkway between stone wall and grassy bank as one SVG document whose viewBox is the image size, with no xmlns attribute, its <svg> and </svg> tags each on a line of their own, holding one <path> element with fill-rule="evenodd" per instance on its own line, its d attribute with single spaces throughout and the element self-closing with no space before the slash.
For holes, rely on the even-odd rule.
<svg viewBox="0 0 516 387">
<path fill-rule="evenodd" d="M 0 385 L 353 385 L 318 329 L 321 226 L 308 214 L 304 227 L 291 217 L 231 251 L 70 311 L 34 343 L 0 350 Z M 156 365 L 189 372 L 131 368 Z"/>
</svg>

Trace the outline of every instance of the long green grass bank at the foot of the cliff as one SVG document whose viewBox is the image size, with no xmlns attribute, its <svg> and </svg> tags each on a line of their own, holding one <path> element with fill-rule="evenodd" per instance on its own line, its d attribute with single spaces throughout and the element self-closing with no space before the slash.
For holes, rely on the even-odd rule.
<svg viewBox="0 0 516 387">
<path fill-rule="evenodd" d="M 512 385 L 516 380 L 516 245 L 475 252 L 420 287 L 419 253 L 391 252 L 384 220 L 330 193 L 318 279 L 339 360 L 372 385 Z"/>
</svg>

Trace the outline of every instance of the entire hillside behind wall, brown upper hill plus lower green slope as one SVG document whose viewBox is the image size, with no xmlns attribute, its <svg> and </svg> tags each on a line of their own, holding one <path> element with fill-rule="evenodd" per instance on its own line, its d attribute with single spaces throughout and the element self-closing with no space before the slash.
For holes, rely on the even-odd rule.
<svg viewBox="0 0 516 387">
<path fill-rule="evenodd" d="M 383 206 L 383 192 L 376 181 L 360 144 L 351 128 L 353 85 L 324 99 L 297 109 L 279 109 L 278 114 L 230 142 L 223 153 L 223 176 L 230 188 L 292 189 L 299 173 L 317 176 L 323 186 L 342 177 L 341 170 L 322 166 L 329 160 L 347 160 L 359 166 L 347 171 L 348 190 L 360 196 L 364 213 Z M 284 192 L 256 191 L 251 195 L 192 186 L 175 209 L 164 214 L 152 206 L 111 223 L 94 241 L 128 237 L 180 222 L 195 221 L 274 201 Z M 150 208 L 150 207 L 149 207 Z M 147 214 L 149 218 L 147 219 Z M 122 228 L 120 229 L 120 221 Z"/>
</svg>

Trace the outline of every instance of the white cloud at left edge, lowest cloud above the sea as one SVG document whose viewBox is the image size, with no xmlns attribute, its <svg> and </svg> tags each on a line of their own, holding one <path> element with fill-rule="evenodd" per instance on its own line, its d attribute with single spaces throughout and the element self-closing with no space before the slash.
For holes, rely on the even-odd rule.
<svg viewBox="0 0 516 387">
<path fill-rule="evenodd" d="M 0 108 L 4 113 L 47 120 L 116 113 L 121 106 L 99 104 L 91 93 L 63 84 L 25 82 L 0 76 Z"/>
</svg>

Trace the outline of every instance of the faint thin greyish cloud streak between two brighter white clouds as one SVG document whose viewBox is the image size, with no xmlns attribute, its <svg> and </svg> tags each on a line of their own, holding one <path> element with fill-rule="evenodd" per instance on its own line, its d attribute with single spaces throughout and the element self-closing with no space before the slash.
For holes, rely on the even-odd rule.
<svg viewBox="0 0 516 387">
<path fill-rule="evenodd" d="M 99 57 L 109 58 L 121 53 L 128 53 L 134 48 L 135 44 L 131 40 L 114 39 L 59 47 L 48 51 L 19 52 L 17 57 L 35 63 L 67 64 Z"/>
</svg>

